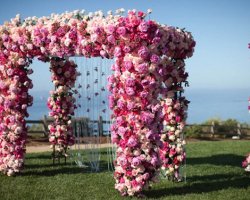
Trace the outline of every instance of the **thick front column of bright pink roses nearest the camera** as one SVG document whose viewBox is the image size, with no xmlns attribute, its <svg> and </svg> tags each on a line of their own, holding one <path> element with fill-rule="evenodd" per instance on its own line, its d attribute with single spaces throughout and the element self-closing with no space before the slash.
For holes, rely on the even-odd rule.
<svg viewBox="0 0 250 200">
<path fill-rule="evenodd" d="M 150 66 L 151 52 L 145 46 L 137 52 L 118 57 L 109 78 L 113 109 L 112 141 L 118 145 L 115 162 L 115 188 L 122 195 L 140 195 L 156 180 L 161 165 L 157 97 L 161 82 Z M 156 62 L 156 61 L 153 61 Z"/>
</svg>

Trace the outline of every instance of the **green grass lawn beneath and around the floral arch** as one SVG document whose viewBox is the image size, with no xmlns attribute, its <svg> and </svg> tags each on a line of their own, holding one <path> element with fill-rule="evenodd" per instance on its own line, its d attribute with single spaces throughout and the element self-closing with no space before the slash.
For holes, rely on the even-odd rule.
<svg viewBox="0 0 250 200">
<path fill-rule="evenodd" d="M 186 182 L 161 180 L 145 191 L 148 199 L 250 199 L 250 174 L 241 162 L 250 141 L 191 142 L 187 145 Z M 28 154 L 20 175 L 0 175 L 0 199 L 136 199 L 120 197 L 101 154 L 101 172 L 76 165 L 51 164 L 50 153 Z"/>
</svg>

